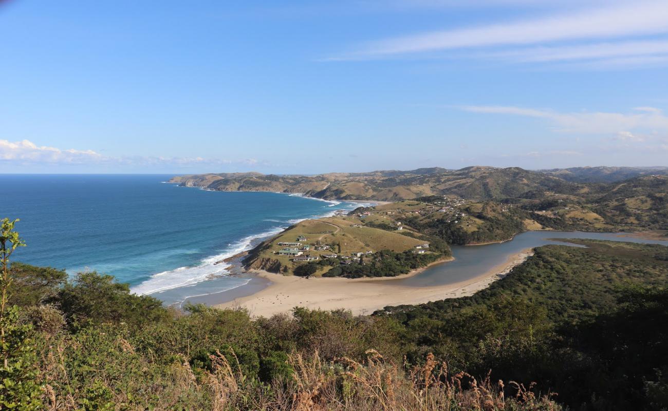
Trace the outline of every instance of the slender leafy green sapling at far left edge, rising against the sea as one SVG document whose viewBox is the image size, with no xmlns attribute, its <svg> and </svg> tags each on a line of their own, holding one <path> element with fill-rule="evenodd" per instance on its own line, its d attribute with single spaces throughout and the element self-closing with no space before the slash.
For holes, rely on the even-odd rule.
<svg viewBox="0 0 668 411">
<path fill-rule="evenodd" d="M 18 247 L 25 246 L 14 230 L 17 221 L 3 219 L 0 231 L 0 408 L 31 411 L 42 408 L 32 327 L 19 323 L 19 307 L 8 306 L 13 282 L 9 257 Z"/>
</svg>

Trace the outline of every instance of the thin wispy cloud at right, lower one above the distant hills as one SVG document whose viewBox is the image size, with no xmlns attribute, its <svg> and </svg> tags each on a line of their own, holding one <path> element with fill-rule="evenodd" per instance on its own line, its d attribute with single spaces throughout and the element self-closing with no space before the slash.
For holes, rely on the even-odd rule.
<svg viewBox="0 0 668 411">
<path fill-rule="evenodd" d="M 631 113 L 576 112 L 512 106 L 462 106 L 462 110 L 488 114 L 510 114 L 548 120 L 559 131 L 582 134 L 618 134 L 634 130 L 668 130 L 668 117 L 657 108 L 641 107 Z"/>
</svg>

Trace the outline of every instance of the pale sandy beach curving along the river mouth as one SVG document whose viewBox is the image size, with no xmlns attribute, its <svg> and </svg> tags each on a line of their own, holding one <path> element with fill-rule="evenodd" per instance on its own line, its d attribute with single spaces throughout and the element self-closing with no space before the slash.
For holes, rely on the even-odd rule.
<svg viewBox="0 0 668 411">
<path fill-rule="evenodd" d="M 467 281 L 434 287 L 393 285 L 394 277 L 380 279 L 310 278 L 258 271 L 258 277 L 271 281 L 261 291 L 239 297 L 219 308 L 244 307 L 251 315 L 269 317 L 291 311 L 294 307 L 310 309 L 347 309 L 353 314 L 370 314 L 388 305 L 420 304 L 440 299 L 472 295 L 504 277 L 510 270 L 533 255 L 532 249 L 510 255 L 506 261 Z M 426 267 L 408 275 L 418 275 Z M 401 276 L 405 278 L 406 276 Z"/>
</svg>

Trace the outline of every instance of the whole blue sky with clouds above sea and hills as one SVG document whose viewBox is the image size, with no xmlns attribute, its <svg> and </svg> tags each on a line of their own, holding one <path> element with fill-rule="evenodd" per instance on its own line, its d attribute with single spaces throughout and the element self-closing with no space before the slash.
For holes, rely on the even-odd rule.
<svg viewBox="0 0 668 411">
<path fill-rule="evenodd" d="M 0 172 L 668 166 L 668 3 L 0 1 Z"/>
</svg>

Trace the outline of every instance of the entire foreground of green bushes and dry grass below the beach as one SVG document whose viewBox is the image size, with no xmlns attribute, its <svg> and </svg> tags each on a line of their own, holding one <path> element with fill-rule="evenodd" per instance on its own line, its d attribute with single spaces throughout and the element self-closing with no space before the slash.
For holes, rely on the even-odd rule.
<svg viewBox="0 0 668 411">
<path fill-rule="evenodd" d="M 665 409 L 668 248 L 579 242 L 539 247 L 472 297 L 359 317 L 180 313 L 3 257 L 0 408 Z"/>
</svg>

